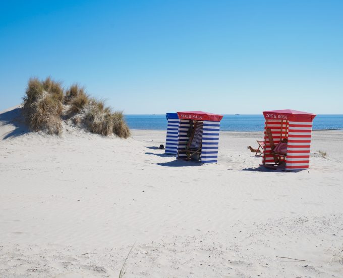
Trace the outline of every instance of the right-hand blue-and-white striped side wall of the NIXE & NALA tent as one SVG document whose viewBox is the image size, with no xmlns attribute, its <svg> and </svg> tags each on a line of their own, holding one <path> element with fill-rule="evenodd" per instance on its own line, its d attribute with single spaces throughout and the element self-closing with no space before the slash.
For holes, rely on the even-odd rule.
<svg viewBox="0 0 343 278">
<path fill-rule="evenodd" d="M 217 163 L 220 122 L 204 121 L 202 132 L 202 163 Z"/>
</svg>

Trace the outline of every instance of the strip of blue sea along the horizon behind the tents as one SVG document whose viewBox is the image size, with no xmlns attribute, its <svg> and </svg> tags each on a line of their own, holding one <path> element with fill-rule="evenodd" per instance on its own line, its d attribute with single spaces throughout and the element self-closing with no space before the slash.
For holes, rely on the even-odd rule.
<svg viewBox="0 0 343 278">
<path fill-rule="evenodd" d="M 165 115 L 125 115 L 130 129 L 166 130 Z M 263 115 L 224 115 L 220 121 L 221 131 L 262 131 Z M 317 115 L 313 130 L 343 129 L 343 115 Z"/>
</svg>

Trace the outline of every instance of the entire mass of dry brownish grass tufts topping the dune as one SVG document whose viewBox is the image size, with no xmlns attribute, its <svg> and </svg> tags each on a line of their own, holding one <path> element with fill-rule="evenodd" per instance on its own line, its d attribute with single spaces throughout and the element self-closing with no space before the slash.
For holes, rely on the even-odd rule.
<svg viewBox="0 0 343 278">
<path fill-rule="evenodd" d="M 61 134 L 61 116 L 67 113 L 67 118 L 76 115 L 77 120 L 72 122 L 77 126 L 83 124 L 90 132 L 103 136 L 116 134 L 121 138 L 130 136 L 123 112 L 112 112 L 104 100 L 90 98 L 85 88 L 77 83 L 64 94 L 62 83 L 51 77 L 44 80 L 30 78 L 23 98 L 23 111 L 30 128 L 35 131 Z"/>
</svg>

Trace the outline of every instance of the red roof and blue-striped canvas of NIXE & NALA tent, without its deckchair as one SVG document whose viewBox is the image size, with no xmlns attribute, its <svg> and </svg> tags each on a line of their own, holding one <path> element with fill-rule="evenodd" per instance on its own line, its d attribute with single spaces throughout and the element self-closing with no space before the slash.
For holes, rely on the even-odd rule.
<svg viewBox="0 0 343 278">
<path fill-rule="evenodd" d="M 177 158 L 187 158 L 184 150 L 189 141 L 189 130 L 194 128 L 196 122 L 202 122 L 201 134 L 196 134 L 201 141 L 200 161 L 201 163 L 217 163 L 220 120 L 223 116 L 202 111 L 187 111 L 178 112 L 178 117 L 180 125 Z"/>
</svg>

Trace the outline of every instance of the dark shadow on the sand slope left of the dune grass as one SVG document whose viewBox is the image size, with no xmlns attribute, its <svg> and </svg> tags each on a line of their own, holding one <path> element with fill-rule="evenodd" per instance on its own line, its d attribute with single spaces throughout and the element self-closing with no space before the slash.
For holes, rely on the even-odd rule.
<svg viewBox="0 0 343 278">
<path fill-rule="evenodd" d="M 15 129 L 3 134 L 3 140 L 15 138 L 30 132 L 28 126 L 24 122 L 21 108 L 19 107 L 0 114 L 0 126 L 9 124 L 14 126 Z"/>
</svg>

